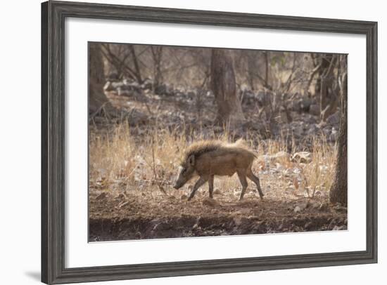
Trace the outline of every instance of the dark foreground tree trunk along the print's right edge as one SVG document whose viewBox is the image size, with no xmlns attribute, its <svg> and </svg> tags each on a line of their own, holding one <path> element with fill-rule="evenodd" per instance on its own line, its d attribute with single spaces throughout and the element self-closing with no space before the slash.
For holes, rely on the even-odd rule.
<svg viewBox="0 0 387 285">
<path fill-rule="evenodd" d="M 342 55 L 345 60 L 346 55 Z M 348 163 L 347 163 L 347 73 L 346 67 L 343 69 L 341 81 L 341 122 L 340 131 L 338 134 L 338 152 L 336 161 L 336 174 L 334 183 L 329 192 L 331 203 L 340 203 L 347 205 L 348 203 Z"/>
</svg>

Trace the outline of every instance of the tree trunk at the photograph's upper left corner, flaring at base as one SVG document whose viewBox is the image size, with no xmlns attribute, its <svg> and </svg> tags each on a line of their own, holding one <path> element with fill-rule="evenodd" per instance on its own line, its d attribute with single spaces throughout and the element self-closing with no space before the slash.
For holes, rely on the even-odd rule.
<svg viewBox="0 0 387 285">
<path fill-rule="evenodd" d="M 89 44 L 89 114 L 99 112 L 102 107 L 105 112 L 114 112 L 115 107 L 103 93 L 105 75 L 101 46 L 98 43 Z"/>
</svg>

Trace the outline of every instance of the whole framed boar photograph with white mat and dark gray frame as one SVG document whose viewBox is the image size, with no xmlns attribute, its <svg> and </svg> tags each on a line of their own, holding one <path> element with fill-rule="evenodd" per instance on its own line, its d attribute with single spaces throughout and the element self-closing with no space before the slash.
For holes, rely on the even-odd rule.
<svg viewBox="0 0 387 285">
<path fill-rule="evenodd" d="M 376 22 L 42 4 L 42 281 L 377 262 Z"/>
</svg>

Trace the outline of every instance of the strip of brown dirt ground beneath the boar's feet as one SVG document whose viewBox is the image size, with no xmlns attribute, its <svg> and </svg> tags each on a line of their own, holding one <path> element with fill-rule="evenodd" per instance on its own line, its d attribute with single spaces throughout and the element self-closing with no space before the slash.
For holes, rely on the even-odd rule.
<svg viewBox="0 0 387 285">
<path fill-rule="evenodd" d="M 139 195 L 94 192 L 90 197 L 89 240 L 157 239 L 230 234 L 262 234 L 345 230 L 346 209 L 329 206 L 326 197 L 290 201 L 266 192 L 238 202 L 237 195 L 198 193 L 192 201 L 183 195 Z M 100 193 L 100 194 L 98 194 Z M 175 194 L 175 195 L 174 195 Z"/>
</svg>

